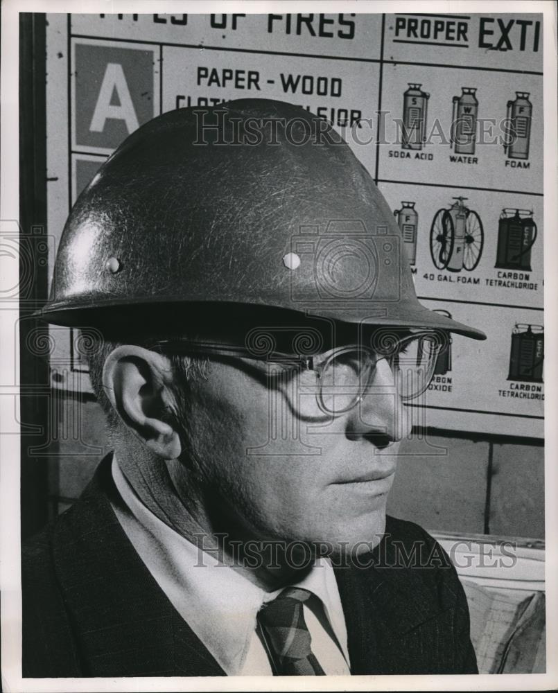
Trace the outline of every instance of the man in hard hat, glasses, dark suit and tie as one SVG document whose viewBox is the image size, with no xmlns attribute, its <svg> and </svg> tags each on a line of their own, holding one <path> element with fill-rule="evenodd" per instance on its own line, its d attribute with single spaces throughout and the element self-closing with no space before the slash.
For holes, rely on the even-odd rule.
<svg viewBox="0 0 558 693">
<path fill-rule="evenodd" d="M 387 518 L 448 332 L 329 125 L 268 100 L 128 137 L 44 317 L 88 337 L 114 455 L 24 551 L 24 676 L 476 673 L 455 570 Z"/>
</svg>

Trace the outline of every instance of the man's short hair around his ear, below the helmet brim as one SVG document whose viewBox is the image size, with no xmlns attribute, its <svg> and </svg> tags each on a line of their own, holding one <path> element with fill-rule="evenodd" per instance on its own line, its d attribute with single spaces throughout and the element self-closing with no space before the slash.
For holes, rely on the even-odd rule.
<svg viewBox="0 0 558 693">
<path fill-rule="evenodd" d="M 110 432 L 117 430 L 120 425 L 120 417 L 110 403 L 103 387 L 103 367 L 107 357 L 116 347 L 120 347 L 123 344 L 134 344 L 134 346 L 148 349 L 159 338 L 160 336 L 150 338 L 143 335 L 141 338 L 116 339 L 104 338 L 101 335 L 87 335 L 87 339 L 82 340 L 82 351 L 85 353 L 87 366 L 89 367 L 91 387 L 105 413 Z M 205 357 L 179 356 L 177 354 L 169 354 L 168 356 L 171 360 L 173 374 L 176 376 L 177 394 L 180 401 L 182 401 L 184 391 L 193 381 L 207 378 L 209 359 Z"/>
</svg>

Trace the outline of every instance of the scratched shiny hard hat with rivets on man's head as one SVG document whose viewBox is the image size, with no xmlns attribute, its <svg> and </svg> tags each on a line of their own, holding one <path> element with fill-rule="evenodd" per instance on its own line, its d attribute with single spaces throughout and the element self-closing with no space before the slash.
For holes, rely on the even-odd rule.
<svg viewBox="0 0 558 693">
<path fill-rule="evenodd" d="M 125 139 L 81 193 L 42 316 L 89 326 L 259 306 L 484 339 L 419 304 L 403 245 L 367 170 L 306 109 L 177 109 Z"/>
</svg>

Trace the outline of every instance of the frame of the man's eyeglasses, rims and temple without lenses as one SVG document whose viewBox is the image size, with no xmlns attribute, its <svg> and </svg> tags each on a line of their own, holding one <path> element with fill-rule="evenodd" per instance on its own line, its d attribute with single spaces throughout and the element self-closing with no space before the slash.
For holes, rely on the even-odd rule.
<svg viewBox="0 0 558 693">
<path fill-rule="evenodd" d="M 384 358 L 395 358 L 399 355 L 399 353 L 401 353 L 403 345 L 406 342 L 409 342 L 410 340 L 415 340 L 420 337 L 439 338 L 441 335 L 444 335 L 444 339 L 439 340 L 439 350 L 435 353 L 435 356 L 433 356 L 432 358 L 432 362 L 434 364 L 432 373 L 430 373 L 430 376 L 425 379 L 425 382 L 422 385 L 421 389 L 419 389 L 419 392 L 416 392 L 412 396 L 408 397 L 401 396 L 401 400 L 405 402 L 416 399 L 417 397 L 421 396 L 421 394 L 423 394 L 426 391 L 426 389 L 428 389 L 428 386 L 432 382 L 432 378 L 434 376 L 435 362 L 438 356 L 446 349 L 450 342 L 448 337 L 448 331 L 439 329 L 424 329 L 417 332 L 408 332 L 404 337 L 398 337 L 394 340 L 394 333 L 396 333 L 396 330 L 397 328 L 392 328 L 392 331 L 386 331 L 384 333 L 385 335 L 390 337 L 390 340 L 392 340 L 390 342 L 390 353 L 385 353 L 382 355 L 378 353 L 378 351 L 374 350 L 372 347 L 368 347 L 365 344 L 347 344 L 344 347 L 334 347 L 333 349 L 326 351 L 325 355 L 320 354 L 322 362 L 318 364 L 315 363 L 315 359 L 318 358 L 317 355 L 286 353 L 282 351 L 268 351 L 267 353 L 260 354 L 254 353 L 254 351 L 252 351 L 248 347 L 241 347 L 239 344 L 228 344 L 226 342 L 206 342 L 204 340 L 184 340 L 180 338 L 157 340 L 157 342 L 153 342 L 152 344 L 150 344 L 148 349 L 152 351 L 157 351 L 157 349 L 162 349 L 166 351 L 167 348 L 171 348 L 175 353 L 182 352 L 185 355 L 191 354 L 200 356 L 225 356 L 231 358 L 246 358 L 248 360 L 255 360 L 267 363 L 294 365 L 297 367 L 302 367 L 308 371 L 314 371 L 318 380 L 322 378 L 324 371 L 329 366 L 333 358 L 340 356 L 340 354 L 343 353 L 350 353 L 354 351 L 365 352 L 371 357 L 369 358 L 369 373 L 365 378 L 365 382 L 360 383 L 359 394 L 356 396 L 354 401 L 351 401 L 350 405 L 347 405 L 347 407 L 343 407 L 340 410 L 334 411 L 332 411 L 329 407 L 326 407 L 323 399 L 324 384 L 322 382 L 320 382 L 319 392 L 315 393 L 317 404 L 322 410 L 322 412 L 329 415 L 333 414 L 335 416 L 339 416 L 341 414 L 349 412 L 351 409 L 354 409 L 354 407 L 356 407 L 358 403 L 363 400 L 365 392 L 369 388 L 370 383 L 372 382 L 372 377 L 374 376 L 374 372 L 376 371 L 376 364 L 378 361 Z M 359 380 L 360 374 L 362 372 L 363 371 L 359 372 Z"/>
</svg>

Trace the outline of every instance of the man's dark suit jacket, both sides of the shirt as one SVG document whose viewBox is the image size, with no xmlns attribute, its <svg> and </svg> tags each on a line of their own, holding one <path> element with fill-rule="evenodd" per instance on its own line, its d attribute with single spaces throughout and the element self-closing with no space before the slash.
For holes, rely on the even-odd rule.
<svg viewBox="0 0 558 693">
<path fill-rule="evenodd" d="M 80 500 L 24 545 L 23 675 L 225 676 L 134 550 L 114 494 L 109 456 Z M 467 599 L 424 529 L 388 516 L 361 563 L 372 565 L 335 568 L 351 673 L 478 673 Z"/>
</svg>

